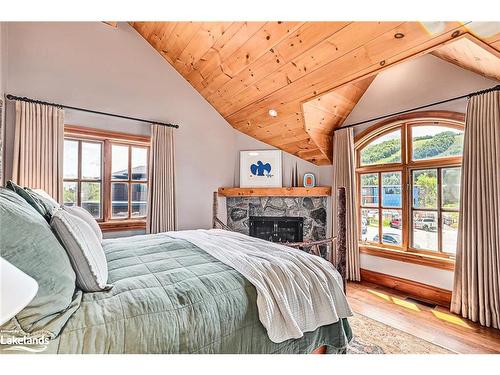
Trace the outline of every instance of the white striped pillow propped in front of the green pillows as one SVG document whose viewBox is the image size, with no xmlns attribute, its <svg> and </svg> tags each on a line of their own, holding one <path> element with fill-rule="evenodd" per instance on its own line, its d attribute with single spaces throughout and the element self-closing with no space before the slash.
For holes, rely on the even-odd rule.
<svg viewBox="0 0 500 375">
<path fill-rule="evenodd" d="M 106 256 L 90 225 L 66 210 L 58 210 L 50 225 L 66 248 L 80 289 L 85 292 L 110 289 Z"/>
</svg>

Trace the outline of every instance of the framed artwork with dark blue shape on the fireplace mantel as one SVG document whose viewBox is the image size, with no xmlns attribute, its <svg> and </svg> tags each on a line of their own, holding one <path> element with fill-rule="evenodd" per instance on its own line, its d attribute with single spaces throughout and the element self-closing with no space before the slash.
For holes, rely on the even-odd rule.
<svg viewBox="0 0 500 375">
<path fill-rule="evenodd" d="M 240 187 L 282 187 L 281 151 L 240 151 Z"/>
</svg>

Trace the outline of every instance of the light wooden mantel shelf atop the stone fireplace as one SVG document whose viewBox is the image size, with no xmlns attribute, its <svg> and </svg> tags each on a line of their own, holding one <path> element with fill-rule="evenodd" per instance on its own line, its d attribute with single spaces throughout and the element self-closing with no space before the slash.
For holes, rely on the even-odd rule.
<svg viewBox="0 0 500 375">
<path fill-rule="evenodd" d="M 223 197 L 327 197 L 331 186 L 284 187 L 284 188 L 219 188 Z"/>
</svg>

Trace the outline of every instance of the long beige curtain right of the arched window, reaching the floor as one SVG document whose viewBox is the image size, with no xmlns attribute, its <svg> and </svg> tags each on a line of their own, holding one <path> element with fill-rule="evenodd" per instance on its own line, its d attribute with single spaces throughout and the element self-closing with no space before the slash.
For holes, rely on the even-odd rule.
<svg viewBox="0 0 500 375">
<path fill-rule="evenodd" d="M 500 92 L 470 99 L 451 311 L 500 328 Z"/>
</svg>

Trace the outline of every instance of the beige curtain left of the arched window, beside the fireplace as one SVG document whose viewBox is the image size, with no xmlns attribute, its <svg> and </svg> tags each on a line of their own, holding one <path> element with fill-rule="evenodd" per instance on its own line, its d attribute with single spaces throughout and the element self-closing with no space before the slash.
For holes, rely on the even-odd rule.
<svg viewBox="0 0 500 375">
<path fill-rule="evenodd" d="M 337 130 L 333 137 L 333 233 L 337 233 L 337 188 L 346 189 L 347 279 L 359 281 L 358 221 L 356 219 L 356 174 L 352 129 Z"/>
</svg>

